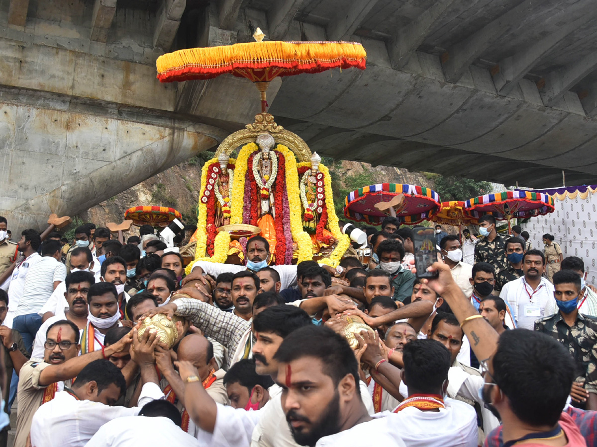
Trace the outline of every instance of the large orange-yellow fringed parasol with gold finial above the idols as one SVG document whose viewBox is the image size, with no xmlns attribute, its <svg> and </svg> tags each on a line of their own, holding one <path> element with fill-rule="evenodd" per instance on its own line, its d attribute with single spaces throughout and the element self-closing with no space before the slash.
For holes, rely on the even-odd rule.
<svg viewBox="0 0 597 447">
<path fill-rule="evenodd" d="M 207 48 L 180 49 L 156 61 L 160 82 L 212 79 L 229 73 L 254 82 L 261 93 L 261 111 L 267 107 L 266 91 L 272 79 L 301 73 L 319 73 L 334 68 L 365 69 L 367 53 L 356 42 L 257 42 Z"/>
</svg>

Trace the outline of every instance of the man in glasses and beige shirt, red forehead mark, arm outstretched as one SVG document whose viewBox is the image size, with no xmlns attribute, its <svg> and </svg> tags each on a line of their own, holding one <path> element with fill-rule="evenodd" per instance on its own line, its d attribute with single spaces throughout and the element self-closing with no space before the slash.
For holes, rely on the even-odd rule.
<svg viewBox="0 0 597 447">
<path fill-rule="evenodd" d="M 105 350 L 79 356 L 79 328 L 72 321 L 59 320 L 47 330 L 44 344 L 44 360 L 32 359 L 21 368 L 19 374 L 19 411 L 14 445 L 27 444 L 33 414 L 42 405 L 54 399 L 90 362 L 109 357 L 128 349 L 131 337 L 124 337 Z"/>
</svg>

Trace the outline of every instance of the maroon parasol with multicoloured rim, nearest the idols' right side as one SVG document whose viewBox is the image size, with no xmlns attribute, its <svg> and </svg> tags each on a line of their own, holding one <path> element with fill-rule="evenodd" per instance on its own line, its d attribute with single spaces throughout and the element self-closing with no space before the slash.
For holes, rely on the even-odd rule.
<svg viewBox="0 0 597 447">
<path fill-rule="evenodd" d="M 381 224 L 386 216 L 395 216 L 402 224 L 415 225 L 432 218 L 440 206 L 438 193 L 429 188 L 382 183 L 347 195 L 344 216 L 371 225 Z"/>
</svg>

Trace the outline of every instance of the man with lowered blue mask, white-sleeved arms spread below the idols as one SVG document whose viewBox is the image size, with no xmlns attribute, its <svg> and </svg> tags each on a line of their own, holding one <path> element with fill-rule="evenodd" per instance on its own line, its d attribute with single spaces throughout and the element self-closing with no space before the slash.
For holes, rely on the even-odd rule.
<svg viewBox="0 0 597 447">
<path fill-rule="evenodd" d="M 269 253 L 269 243 L 267 242 L 266 238 L 261 236 L 252 237 L 247 243 L 246 258 L 246 266 L 196 261 L 193 264 L 190 274 L 184 278 L 183 285 L 192 280 L 205 281 L 203 278 L 204 274 L 217 278 L 221 273 L 236 273 L 242 270 L 257 272 L 260 269 L 267 267 L 267 263 L 271 257 Z M 272 268 L 280 274 L 280 282 L 282 283 L 281 290 L 284 290 L 285 288 L 288 288 L 296 283 L 296 265 L 273 265 Z"/>
</svg>

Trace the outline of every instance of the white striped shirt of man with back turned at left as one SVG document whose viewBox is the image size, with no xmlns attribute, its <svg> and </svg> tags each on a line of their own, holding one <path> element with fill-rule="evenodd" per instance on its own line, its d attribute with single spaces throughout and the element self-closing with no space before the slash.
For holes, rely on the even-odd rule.
<svg viewBox="0 0 597 447">
<path fill-rule="evenodd" d="M 27 271 L 16 316 L 37 313 L 54 291 L 55 281 L 64 281 L 66 266 L 51 256 L 44 256 Z"/>
</svg>

